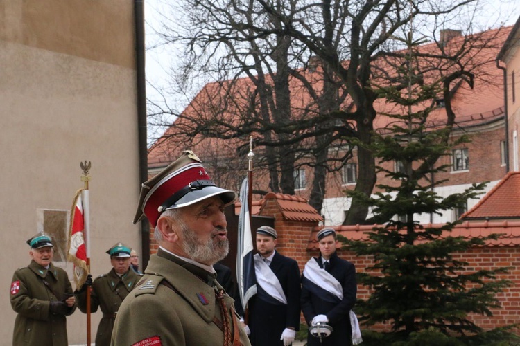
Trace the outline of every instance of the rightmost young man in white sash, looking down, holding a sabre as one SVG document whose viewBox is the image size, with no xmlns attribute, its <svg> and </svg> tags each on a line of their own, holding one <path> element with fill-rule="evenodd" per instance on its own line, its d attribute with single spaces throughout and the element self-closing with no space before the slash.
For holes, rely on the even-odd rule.
<svg viewBox="0 0 520 346">
<path fill-rule="evenodd" d="M 320 340 L 309 330 L 307 345 L 351 345 L 350 311 L 356 303 L 356 269 L 336 254 L 338 240 L 333 228 L 323 228 L 317 238 L 320 257 L 311 258 L 302 275 L 302 312 L 309 328 L 324 323 L 333 331 Z"/>
</svg>

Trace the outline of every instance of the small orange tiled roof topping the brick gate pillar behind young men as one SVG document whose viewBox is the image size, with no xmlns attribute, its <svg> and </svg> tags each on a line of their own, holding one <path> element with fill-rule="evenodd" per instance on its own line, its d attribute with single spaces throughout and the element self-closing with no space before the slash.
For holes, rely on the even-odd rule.
<svg viewBox="0 0 520 346">
<path fill-rule="evenodd" d="M 303 197 L 269 192 L 264 200 L 275 199 L 284 219 L 291 221 L 323 221 L 318 212 Z M 265 204 L 264 204 L 265 206 Z M 263 208 L 263 207 L 262 207 Z"/>
</svg>

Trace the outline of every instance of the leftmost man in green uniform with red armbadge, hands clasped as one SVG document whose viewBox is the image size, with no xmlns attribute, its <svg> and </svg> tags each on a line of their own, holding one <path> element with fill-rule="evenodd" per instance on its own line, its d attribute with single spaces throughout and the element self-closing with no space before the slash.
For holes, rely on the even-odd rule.
<svg viewBox="0 0 520 346">
<path fill-rule="evenodd" d="M 67 318 L 76 298 L 67 273 L 52 263 L 51 237 L 38 233 L 27 241 L 31 264 L 12 276 L 10 300 L 17 313 L 12 345 L 67 346 Z"/>
</svg>

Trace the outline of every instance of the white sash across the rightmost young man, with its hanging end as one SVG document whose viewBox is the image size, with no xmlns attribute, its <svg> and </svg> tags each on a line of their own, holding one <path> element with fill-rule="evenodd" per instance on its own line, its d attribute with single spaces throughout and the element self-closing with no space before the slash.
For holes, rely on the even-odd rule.
<svg viewBox="0 0 520 346">
<path fill-rule="evenodd" d="M 336 277 L 333 277 L 331 273 L 320 268 L 318 262 L 313 258 L 311 258 L 311 260 L 305 264 L 303 275 L 309 281 L 313 282 L 313 284 L 321 287 L 327 292 L 332 293 L 333 295 L 336 295 L 336 297 L 340 298 L 340 300 L 343 299 L 343 288 L 341 287 L 340 282 L 336 280 Z M 363 342 L 363 339 L 361 338 L 361 330 L 359 329 L 358 318 L 352 310 L 349 311 L 349 316 L 350 327 L 352 329 L 352 344 L 359 345 Z"/>
</svg>

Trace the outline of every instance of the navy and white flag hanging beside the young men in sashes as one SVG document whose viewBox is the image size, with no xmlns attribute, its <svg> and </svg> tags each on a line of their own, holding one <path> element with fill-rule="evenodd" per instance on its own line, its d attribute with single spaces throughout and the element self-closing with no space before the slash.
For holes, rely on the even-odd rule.
<svg viewBox="0 0 520 346">
<path fill-rule="evenodd" d="M 239 241 L 236 251 L 236 282 L 238 282 L 240 301 L 243 310 L 248 300 L 257 293 L 257 278 L 254 275 L 253 240 L 248 206 L 248 179 L 245 178 L 240 189 L 242 203 L 239 214 Z"/>
</svg>

